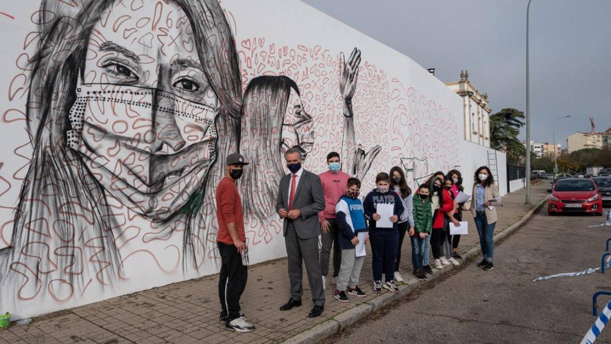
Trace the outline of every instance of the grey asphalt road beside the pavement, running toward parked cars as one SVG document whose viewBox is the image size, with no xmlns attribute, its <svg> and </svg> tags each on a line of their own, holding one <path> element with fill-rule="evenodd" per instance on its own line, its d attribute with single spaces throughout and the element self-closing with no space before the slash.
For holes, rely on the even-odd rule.
<svg viewBox="0 0 611 344">
<path fill-rule="evenodd" d="M 598 216 L 550 217 L 544 204 L 495 247 L 494 270 L 478 268 L 478 256 L 326 342 L 579 343 L 595 321 L 592 294 L 611 290 L 611 269 L 532 280 L 599 266 L 611 227 L 588 225 L 602 222 Z M 599 309 L 608 300 L 599 297 Z M 611 343 L 611 329 L 596 343 Z"/>
</svg>

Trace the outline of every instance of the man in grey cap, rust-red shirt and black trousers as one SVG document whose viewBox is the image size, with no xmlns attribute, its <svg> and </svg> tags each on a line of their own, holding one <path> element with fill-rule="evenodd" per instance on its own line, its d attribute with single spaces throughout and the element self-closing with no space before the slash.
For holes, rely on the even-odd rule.
<svg viewBox="0 0 611 344">
<path fill-rule="evenodd" d="M 225 176 L 216 189 L 216 219 L 219 224 L 216 244 L 221 253 L 220 319 L 225 321 L 226 327 L 237 332 L 251 332 L 255 326 L 240 315 L 240 297 L 248 276 L 242 256 L 246 256 L 248 246 L 244 233 L 242 202 L 235 184 L 248 163 L 241 154 L 233 153 L 227 156 L 225 165 Z"/>
</svg>

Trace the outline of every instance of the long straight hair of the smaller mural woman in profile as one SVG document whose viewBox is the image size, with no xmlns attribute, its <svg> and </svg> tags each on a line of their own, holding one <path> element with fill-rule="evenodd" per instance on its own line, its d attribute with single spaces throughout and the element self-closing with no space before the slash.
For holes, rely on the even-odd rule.
<svg viewBox="0 0 611 344">
<path fill-rule="evenodd" d="M 276 209 L 278 185 L 284 176 L 282 124 L 291 88 L 288 77 L 263 76 L 251 80 L 244 92 L 240 152 L 251 165 L 244 169 L 244 211 L 266 219 Z"/>
</svg>

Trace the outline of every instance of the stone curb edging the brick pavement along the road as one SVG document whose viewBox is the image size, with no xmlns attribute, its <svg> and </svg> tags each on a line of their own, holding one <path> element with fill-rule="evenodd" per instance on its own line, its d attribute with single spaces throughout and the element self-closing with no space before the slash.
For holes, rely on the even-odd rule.
<svg viewBox="0 0 611 344">
<path fill-rule="evenodd" d="M 545 203 L 547 197 L 543 198 L 539 203 L 535 204 L 530 208 L 526 214 L 522 217 L 522 219 L 514 222 L 507 228 L 503 229 L 499 233 L 494 235 L 494 242 L 500 241 L 504 237 L 508 236 L 511 232 L 519 228 L 524 222 L 530 219 L 530 217 L 535 213 L 536 209 L 538 209 L 541 204 Z M 463 254 L 463 261 L 469 260 L 471 256 L 480 254 L 481 249 L 477 245 L 472 249 L 468 250 Z M 455 267 L 450 265 L 445 267 L 443 270 L 433 269 L 433 275 L 431 275 L 429 281 L 437 279 L 439 276 L 443 274 L 447 274 L 452 271 Z M 311 329 L 307 329 L 304 332 L 296 335 L 295 337 L 288 338 L 283 343 L 287 344 L 311 344 L 317 343 L 323 340 L 324 338 L 331 337 L 331 335 L 336 334 L 340 330 L 344 329 L 351 324 L 356 323 L 359 320 L 365 318 L 365 316 L 370 315 L 373 312 L 377 312 L 381 308 L 386 305 L 392 304 L 395 301 L 401 299 L 411 293 L 412 290 L 416 286 L 421 285 L 414 278 L 406 279 L 406 284 L 399 285 L 399 293 L 390 293 L 386 291 L 384 294 L 381 294 L 370 301 L 365 302 L 364 304 L 357 305 L 356 307 L 350 308 L 345 312 L 342 312 L 336 315 L 334 318 L 324 321 Z"/>
</svg>

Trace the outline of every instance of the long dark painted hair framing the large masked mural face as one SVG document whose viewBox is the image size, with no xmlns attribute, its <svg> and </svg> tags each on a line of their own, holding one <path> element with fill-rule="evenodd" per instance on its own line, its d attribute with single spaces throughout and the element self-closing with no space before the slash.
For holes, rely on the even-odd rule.
<svg viewBox="0 0 611 344">
<path fill-rule="evenodd" d="M 221 105 L 216 119 L 217 159 L 224 161 L 228 152 L 237 148 L 240 131 L 240 74 L 235 42 L 217 0 L 172 1 L 191 22 L 200 62 Z M 119 275 L 121 259 L 114 234 L 119 234 L 120 224 L 112 216 L 101 184 L 82 163 L 78 152 L 65 144 L 70 125 L 68 111 L 75 102 L 77 80 L 84 78 L 79 71 L 92 28 L 114 2 L 83 0 L 75 7 L 54 0 L 41 3 L 41 41 L 31 62 L 26 107 L 34 152 L 16 207 L 12 247 L 0 255 L 1 279 L 6 282 L 2 283 L 2 294 L 9 297 L 29 299 L 41 290 L 45 293 L 47 283 L 57 279 L 57 274 L 62 274 L 59 278 L 69 283 L 73 291 L 87 287 L 89 279 L 83 274 L 104 285 L 111 285 Z M 213 36 L 214 40 L 209 39 Z M 208 189 L 207 185 L 216 187 L 222 174 L 222 167 L 214 164 L 207 181 L 192 196 L 194 201 L 188 202 L 189 209 L 183 209 L 188 214 L 184 267 L 199 267 L 202 262 L 196 258 L 203 260 L 205 254 L 210 255 L 206 251 L 214 247 L 216 238 L 210 238 L 211 243 L 203 247 L 194 242 L 209 240 L 208 233 L 202 232 L 209 231 L 213 221 L 214 195 L 210 193 L 214 190 L 210 189 L 214 188 Z M 57 260 L 51 260 L 51 255 Z M 76 259 L 79 255 L 86 257 L 80 263 Z M 22 293 L 27 274 L 35 276 L 34 296 Z M 16 293 L 9 293 L 7 287 L 15 288 Z"/>
</svg>

